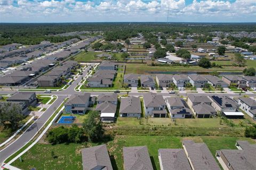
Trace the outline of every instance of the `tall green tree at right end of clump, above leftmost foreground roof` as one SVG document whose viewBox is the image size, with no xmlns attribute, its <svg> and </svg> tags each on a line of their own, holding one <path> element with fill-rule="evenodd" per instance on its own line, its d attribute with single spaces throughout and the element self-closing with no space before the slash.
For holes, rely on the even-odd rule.
<svg viewBox="0 0 256 170">
<path fill-rule="evenodd" d="M 104 130 L 99 120 L 99 112 L 90 111 L 87 119 L 84 120 L 83 128 L 93 142 L 100 141 L 103 137 Z"/>
</svg>

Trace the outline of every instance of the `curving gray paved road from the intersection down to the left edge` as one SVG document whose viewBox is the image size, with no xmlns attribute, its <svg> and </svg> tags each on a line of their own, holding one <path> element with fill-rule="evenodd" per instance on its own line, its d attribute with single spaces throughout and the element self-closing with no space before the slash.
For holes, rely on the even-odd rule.
<svg viewBox="0 0 256 170">
<path fill-rule="evenodd" d="M 20 135 L 18 140 L 11 143 L 11 145 L 7 146 L 3 150 L 0 151 L 0 163 L 4 162 L 6 158 L 11 156 L 14 152 L 18 151 L 22 148 L 30 139 L 34 137 L 38 130 L 44 125 L 45 122 L 52 116 L 52 114 L 56 111 L 56 109 L 60 106 L 62 101 L 65 99 L 65 96 L 58 96 L 58 98 L 54 101 L 54 103 L 47 108 L 47 110 L 42 114 L 41 117 L 36 120 L 30 128 L 28 128 L 25 133 Z"/>
</svg>

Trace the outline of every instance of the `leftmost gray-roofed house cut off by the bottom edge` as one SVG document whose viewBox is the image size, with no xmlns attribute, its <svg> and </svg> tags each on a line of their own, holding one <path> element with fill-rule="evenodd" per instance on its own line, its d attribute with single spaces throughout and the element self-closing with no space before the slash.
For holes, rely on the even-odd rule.
<svg viewBox="0 0 256 170">
<path fill-rule="evenodd" d="M 81 152 L 83 170 L 113 170 L 106 144 L 83 148 L 81 149 Z"/>
</svg>

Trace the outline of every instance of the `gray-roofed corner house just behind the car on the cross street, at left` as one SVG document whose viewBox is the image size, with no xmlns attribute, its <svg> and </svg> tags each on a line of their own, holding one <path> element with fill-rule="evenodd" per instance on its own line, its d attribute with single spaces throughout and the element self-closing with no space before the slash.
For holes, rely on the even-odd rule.
<svg viewBox="0 0 256 170">
<path fill-rule="evenodd" d="M 37 79 L 39 87 L 57 87 L 60 83 L 58 75 L 42 75 Z"/>
</svg>

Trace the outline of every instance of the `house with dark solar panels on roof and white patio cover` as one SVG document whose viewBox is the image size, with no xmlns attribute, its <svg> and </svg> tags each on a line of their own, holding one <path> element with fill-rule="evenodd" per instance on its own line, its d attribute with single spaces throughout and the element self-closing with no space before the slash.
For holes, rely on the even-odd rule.
<svg viewBox="0 0 256 170">
<path fill-rule="evenodd" d="M 210 96 L 212 107 L 219 111 L 223 116 L 227 118 L 243 118 L 244 114 L 237 112 L 239 109 L 238 103 L 235 100 L 227 96 Z"/>
</svg>

